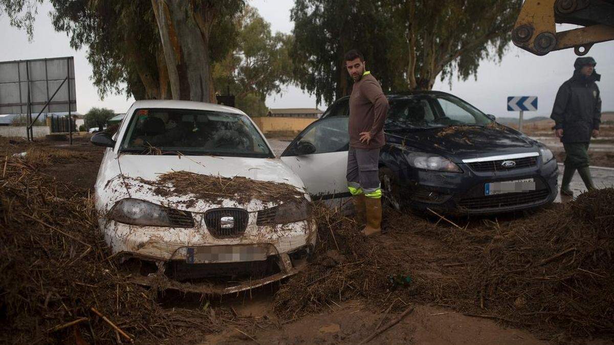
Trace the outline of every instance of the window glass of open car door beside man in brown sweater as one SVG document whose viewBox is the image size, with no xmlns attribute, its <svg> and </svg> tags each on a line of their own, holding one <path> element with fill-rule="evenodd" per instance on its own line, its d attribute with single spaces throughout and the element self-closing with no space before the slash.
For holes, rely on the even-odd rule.
<svg viewBox="0 0 614 345">
<path fill-rule="evenodd" d="M 301 142 L 309 142 L 316 147 L 316 153 L 347 151 L 349 147 L 348 117 L 329 117 L 314 122 L 292 143 L 293 149 Z"/>
</svg>

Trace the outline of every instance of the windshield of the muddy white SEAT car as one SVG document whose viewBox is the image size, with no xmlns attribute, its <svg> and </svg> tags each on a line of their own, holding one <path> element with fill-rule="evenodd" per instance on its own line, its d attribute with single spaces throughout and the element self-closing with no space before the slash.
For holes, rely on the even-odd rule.
<svg viewBox="0 0 614 345">
<path fill-rule="evenodd" d="M 120 150 L 142 155 L 273 157 L 245 115 L 207 110 L 137 109 Z"/>
</svg>

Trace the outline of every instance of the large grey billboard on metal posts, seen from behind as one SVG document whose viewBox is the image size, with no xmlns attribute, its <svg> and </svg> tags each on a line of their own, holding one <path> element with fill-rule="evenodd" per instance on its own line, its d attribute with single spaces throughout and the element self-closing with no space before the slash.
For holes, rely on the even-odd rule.
<svg viewBox="0 0 614 345">
<path fill-rule="evenodd" d="M 72 56 L 0 62 L 0 114 L 25 114 L 28 140 L 34 139 L 32 126 L 45 110 L 68 112 L 72 123 L 71 113 L 77 111 L 75 94 Z M 71 144 L 72 130 L 69 125 Z"/>
</svg>

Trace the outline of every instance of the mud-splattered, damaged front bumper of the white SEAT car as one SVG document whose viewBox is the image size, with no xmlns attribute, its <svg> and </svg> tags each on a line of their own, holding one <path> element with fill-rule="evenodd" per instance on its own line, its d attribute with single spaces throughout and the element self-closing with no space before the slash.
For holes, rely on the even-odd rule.
<svg viewBox="0 0 614 345">
<path fill-rule="evenodd" d="M 236 238 L 214 238 L 206 227 L 142 227 L 101 219 L 104 238 L 132 280 L 183 292 L 223 295 L 298 273 L 317 239 L 311 221 L 250 224 Z"/>
</svg>

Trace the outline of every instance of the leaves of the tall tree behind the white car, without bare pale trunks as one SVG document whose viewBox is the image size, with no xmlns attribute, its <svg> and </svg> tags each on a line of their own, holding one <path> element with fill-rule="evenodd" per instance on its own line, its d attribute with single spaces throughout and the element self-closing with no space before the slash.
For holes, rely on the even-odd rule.
<svg viewBox="0 0 614 345">
<path fill-rule="evenodd" d="M 101 98 L 110 93 L 136 99 L 169 98 L 168 72 L 150 0 L 50 0 L 56 31 L 70 37 L 71 47 L 88 48 L 91 80 Z M 0 14 L 32 36 L 42 0 L 0 0 Z M 211 61 L 225 58 L 236 45 L 235 18 L 244 0 L 200 0 L 192 9 L 209 30 Z M 185 47 L 184 47 L 185 49 Z"/>
</svg>

